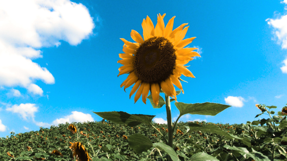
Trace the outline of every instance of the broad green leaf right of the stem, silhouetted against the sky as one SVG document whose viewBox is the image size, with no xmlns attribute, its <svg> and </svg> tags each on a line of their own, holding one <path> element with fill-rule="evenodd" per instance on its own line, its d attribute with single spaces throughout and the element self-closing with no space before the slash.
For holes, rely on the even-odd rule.
<svg viewBox="0 0 287 161">
<path fill-rule="evenodd" d="M 196 104 L 185 104 L 182 102 L 174 103 L 177 109 L 180 111 L 179 116 L 185 114 L 192 114 L 192 115 L 211 115 L 215 116 L 218 113 L 222 112 L 223 110 L 231 107 L 229 105 L 222 105 L 216 103 L 196 103 Z"/>
</svg>

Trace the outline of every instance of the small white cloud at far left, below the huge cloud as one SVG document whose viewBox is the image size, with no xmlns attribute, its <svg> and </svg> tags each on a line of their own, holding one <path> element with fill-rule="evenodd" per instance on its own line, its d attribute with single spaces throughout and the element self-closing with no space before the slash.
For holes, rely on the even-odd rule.
<svg viewBox="0 0 287 161">
<path fill-rule="evenodd" d="M 18 113 L 20 116 L 24 119 L 27 120 L 28 118 L 34 118 L 35 117 L 35 112 L 38 111 L 38 107 L 36 107 L 36 104 L 20 104 L 18 105 L 13 105 L 12 107 L 7 107 L 7 111 L 11 111 L 13 113 Z"/>
</svg>

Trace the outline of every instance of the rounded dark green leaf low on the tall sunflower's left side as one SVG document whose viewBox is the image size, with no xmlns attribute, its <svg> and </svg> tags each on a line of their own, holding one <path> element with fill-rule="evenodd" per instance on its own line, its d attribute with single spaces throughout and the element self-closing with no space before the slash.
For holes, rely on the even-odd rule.
<svg viewBox="0 0 287 161">
<path fill-rule="evenodd" d="M 141 153 L 153 147 L 152 141 L 145 135 L 133 134 L 128 138 L 128 145 L 136 152 Z"/>
</svg>

